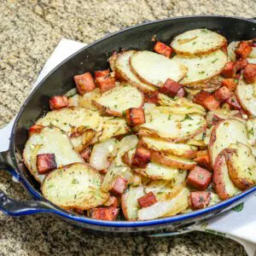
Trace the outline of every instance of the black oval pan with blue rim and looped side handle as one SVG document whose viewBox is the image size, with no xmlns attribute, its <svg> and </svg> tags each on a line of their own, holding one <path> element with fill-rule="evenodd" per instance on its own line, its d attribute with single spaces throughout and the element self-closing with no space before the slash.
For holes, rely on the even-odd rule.
<svg viewBox="0 0 256 256">
<path fill-rule="evenodd" d="M 32 201 L 15 201 L 10 199 L 0 190 L 0 210 L 10 216 L 20 216 L 32 213 L 49 213 L 63 220 L 79 226 L 84 230 L 113 232 L 113 233 L 163 233 L 177 234 L 191 224 L 198 223 L 204 218 L 211 218 L 231 207 L 235 207 L 248 196 L 256 192 L 256 187 L 222 201 L 212 207 L 177 215 L 170 218 L 160 218 L 150 221 L 108 222 L 91 218 L 81 217 L 67 212 L 60 207 L 55 207 L 45 200 L 40 194 L 39 185 L 22 164 L 21 154 L 27 140 L 27 129 L 49 111 L 49 97 L 63 95 L 73 89 L 73 76 L 84 71 L 93 72 L 97 69 L 108 68 L 108 56 L 113 50 L 123 49 L 149 49 L 154 44 L 152 36 L 164 43 L 170 43 L 171 38 L 181 32 L 195 28 L 206 27 L 219 32 L 230 41 L 256 38 L 256 21 L 227 16 L 188 16 L 167 20 L 148 22 L 143 25 L 133 26 L 121 32 L 116 32 L 106 38 L 102 38 L 93 44 L 85 46 L 77 53 L 63 61 L 49 75 L 38 84 L 32 94 L 20 109 L 15 120 L 9 150 L 0 153 L 0 169 L 5 169 L 25 187 L 32 195 Z"/>
</svg>

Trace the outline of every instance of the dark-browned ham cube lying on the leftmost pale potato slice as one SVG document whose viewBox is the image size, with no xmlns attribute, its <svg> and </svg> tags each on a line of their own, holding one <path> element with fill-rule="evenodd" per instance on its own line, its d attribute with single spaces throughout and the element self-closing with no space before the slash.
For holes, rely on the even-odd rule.
<svg viewBox="0 0 256 256">
<path fill-rule="evenodd" d="M 46 174 L 57 168 L 55 154 L 38 154 L 37 168 L 39 174 Z"/>
</svg>

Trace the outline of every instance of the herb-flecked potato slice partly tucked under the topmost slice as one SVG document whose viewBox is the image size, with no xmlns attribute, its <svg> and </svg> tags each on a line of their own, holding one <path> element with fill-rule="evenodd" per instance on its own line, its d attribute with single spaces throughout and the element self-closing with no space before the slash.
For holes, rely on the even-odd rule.
<svg viewBox="0 0 256 256">
<path fill-rule="evenodd" d="M 227 62 L 227 55 L 221 49 L 218 49 L 201 56 L 175 55 L 172 60 L 178 61 L 188 68 L 188 73 L 179 83 L 193 86 L 221 73 Z"/>
</svg>

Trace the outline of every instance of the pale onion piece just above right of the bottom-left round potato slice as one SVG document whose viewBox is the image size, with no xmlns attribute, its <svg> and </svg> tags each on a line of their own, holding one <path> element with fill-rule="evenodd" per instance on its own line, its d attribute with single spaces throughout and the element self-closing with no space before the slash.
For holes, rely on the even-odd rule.
<svg viewBox="0 0 256 256">
<path fill-rule="evenodd" d="M 96 170 L 104 170 L 109 166 L 108 159 L 116 153 L 118 140 L 110 138 L 103 143 L 96 143 L 90 155 L 90 165 Z"/>
</svg>

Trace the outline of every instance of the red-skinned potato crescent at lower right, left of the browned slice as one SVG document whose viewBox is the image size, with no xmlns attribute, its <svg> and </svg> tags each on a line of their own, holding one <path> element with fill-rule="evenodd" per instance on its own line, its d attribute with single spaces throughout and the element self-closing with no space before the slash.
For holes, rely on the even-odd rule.
<svg viewBox="0 0 256 256">
<path fill-rule="evenodd" d="M 241 192 L 230 180 L 224 151 L 218 154 L 218 157 L 215 160 L 215 165 L 213 166 L 213 170 L 212 181 L 214 183 L 214 188 L 221 200 L 226 200 Z"/>
</svg>

